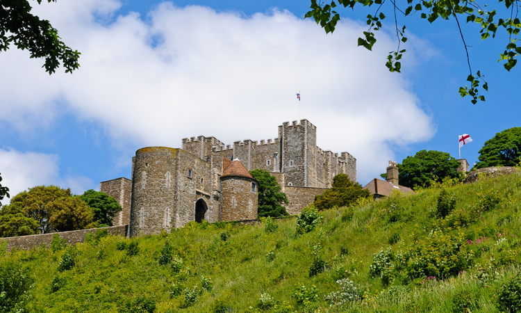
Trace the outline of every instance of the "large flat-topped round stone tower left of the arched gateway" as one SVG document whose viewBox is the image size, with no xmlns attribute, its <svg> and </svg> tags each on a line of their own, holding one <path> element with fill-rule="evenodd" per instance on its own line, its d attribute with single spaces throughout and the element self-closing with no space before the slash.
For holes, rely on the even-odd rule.
<svg viewBox="0 0 521 313">
<path fill-rule="evenodd" d="M 172 227 L 177 149 L 144 147 L 135 152 L 130 236 Z"/>
</svg>

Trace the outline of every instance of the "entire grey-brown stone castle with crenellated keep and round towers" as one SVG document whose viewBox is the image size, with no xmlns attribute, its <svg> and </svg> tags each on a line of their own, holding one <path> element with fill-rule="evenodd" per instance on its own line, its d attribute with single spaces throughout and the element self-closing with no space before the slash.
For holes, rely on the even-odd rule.
<svg viewBox="0 0 521 313">
<path fill-rule="evenodd" d="M 249 170 L 269 171 L 286 193 L 289 214 L 331 188 L 344 173 L 356 181 L 356 159 L 317 147 L 317 128 L 308 120 L 283 122 L 272 141 L 245 139 L 225 145 L 215 137 L 183 138 L 182 148 L 144 147 L 132 158 L 131 179 L 100 183 L 123 211 L 113 225 L 129 225 L 130 236 L 201 222 L 255 220 L 258 182 Z"/>
</svg>

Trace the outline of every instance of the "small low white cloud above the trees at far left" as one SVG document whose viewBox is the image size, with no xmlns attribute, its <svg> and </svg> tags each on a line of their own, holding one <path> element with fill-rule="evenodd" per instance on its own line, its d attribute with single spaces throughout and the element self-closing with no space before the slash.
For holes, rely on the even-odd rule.
<svg viewBox="0 0 521 313">
<path fill-rule="evenodd" d="M 92 188 L 92 180 L 87 177 L 61 177 L 58 161 L 56 154 L 0 149 L 1 185 L 9 188 L 11 198 L 42 185 L 68 186 L 76 194 Z M 2 204 L 9 203 L 8 198 L 2 200 Z"/>
</svg>

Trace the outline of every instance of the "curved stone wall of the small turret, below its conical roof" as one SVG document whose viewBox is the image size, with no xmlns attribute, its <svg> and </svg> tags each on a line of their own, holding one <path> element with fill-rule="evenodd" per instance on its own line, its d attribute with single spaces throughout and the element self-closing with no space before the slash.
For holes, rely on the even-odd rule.
<svg viewBox="0 0 521 313">
<path fill-rule="evenodd" d="M 255 192 L 251 192 L 251 184 Z M 258 183 L 247 177 L 222 178 L 221 221 L 254 220 L 258 213 Z"/>
</svg>

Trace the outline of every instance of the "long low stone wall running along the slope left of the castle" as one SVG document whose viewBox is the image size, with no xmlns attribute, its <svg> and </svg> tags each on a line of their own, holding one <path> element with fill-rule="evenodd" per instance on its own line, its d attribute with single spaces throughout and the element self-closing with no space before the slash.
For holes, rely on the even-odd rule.
<svg viewBox="0 0 521 313">
<path fill-rule="evenodd" d="M 76 243 L 83 243 L 83 241 L 85 241 L 86 234 L 94 234 L 98 230 L 107 230 L 109 234 L 113 234 L 115 236 L 127 236 L 129 225 L 92 228 L 90 230 L 73 230 L 71 232 L 58 232 L 51 234 L 36 234 L 31 236 L 0 238 L 0 242 L 3 243 L 3 241 L 7 240 L 8 251 L 15 247 L 20 250 L 28 250 L 33 247 L 39 247 L 42 244 L 45 245 L 46 248 L 49 248 L 49 245 L 51 244 L 51 241 L 53 239 L 53 235 L 59 234 L 60 238 L 65 239 L 65 242 L 68 245 L 74 246 Z"/>
</svg>

